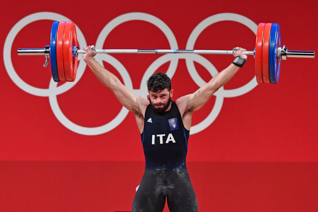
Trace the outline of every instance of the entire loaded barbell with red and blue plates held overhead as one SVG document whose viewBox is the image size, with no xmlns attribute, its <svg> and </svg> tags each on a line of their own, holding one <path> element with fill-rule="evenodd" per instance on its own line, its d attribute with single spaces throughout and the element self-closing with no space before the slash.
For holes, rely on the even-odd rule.
<svg viewBox="0 0 318 212">
<path fill-rule="evenodd" d="M 280 43 L 279 24 L 260 23 L 257 27 L 256 44 L 253 51 L 242 52 L 254 55 L 255 76 L 258 83 L 277 84 L 280 75 L 280 60 L 287 58 L 315 58 L 315 51 L 290 51 Z M 44 55 L 45 64 L 51 60 L 52 77 L 55 82 L 73 82 L 76 78 L 78 49 L 75 24 L 54 22 L 51 28 L 50 45 L 44 49 L 18 49 L 18 55 Z M 170 49 L 96 49 L 96 53 L 192 53 L 233 54 L 233 50 L 170 50 Z"/>
</svg>

